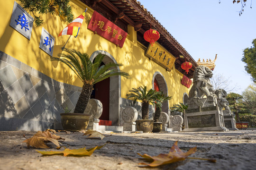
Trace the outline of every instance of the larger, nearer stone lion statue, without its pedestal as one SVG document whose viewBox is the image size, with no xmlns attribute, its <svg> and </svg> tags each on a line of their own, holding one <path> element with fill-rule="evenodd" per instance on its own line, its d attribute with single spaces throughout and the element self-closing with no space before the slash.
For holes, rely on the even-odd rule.
<svg viewBox="0 0 256 170">
<path fill-rule="evenodd" d="M 193 85 L 189 91 L 189 98 L 202 98 L 204 95 L 206 97 L 215 96 L 214 89 L 210 83 L 210 78 L 212 77 L 212 71 L 210 68 L 205 66 L 198 66 L 193 75 Z"/>
</svg>

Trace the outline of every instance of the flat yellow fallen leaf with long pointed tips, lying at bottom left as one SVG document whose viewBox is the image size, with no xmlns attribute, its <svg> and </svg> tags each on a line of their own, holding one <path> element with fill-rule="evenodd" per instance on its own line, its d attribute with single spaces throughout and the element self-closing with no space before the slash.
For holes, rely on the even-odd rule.
<svg viewBox="0 0 256 170">
<path fill-rule="evenodd" d="M 105 145 L 105 144 L 104 144 Z M 91 154 L 96 150 L 100 149 L 102 146 L 96 146 L 91 149 L 85 149 L 80 148 L 80 149 L 65 149 L 64 151 L 37 151 L 38 153 L 43 154 L 44 156 L 46 155 L 55 155 L 55 154 L 63 154 L 63 156 L 91 156 Z"/>
</svg>

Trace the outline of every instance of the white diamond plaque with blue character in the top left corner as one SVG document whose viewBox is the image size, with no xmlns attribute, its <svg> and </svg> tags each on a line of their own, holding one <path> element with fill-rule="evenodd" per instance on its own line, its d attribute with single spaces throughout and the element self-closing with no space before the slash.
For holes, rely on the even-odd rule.
<svg viewBox="0 0 256 170">
<path fill-rule="evenodd" d="M 10 26 L 30 40 L 34 18 L 14 1 Z"/>
</svg>

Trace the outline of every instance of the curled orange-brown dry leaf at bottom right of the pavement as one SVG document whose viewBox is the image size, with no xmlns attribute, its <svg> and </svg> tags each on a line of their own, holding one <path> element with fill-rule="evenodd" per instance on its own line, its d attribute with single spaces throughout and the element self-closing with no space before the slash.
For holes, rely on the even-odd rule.
<svg viewBox="0 0 256 170">
<path fill-rule="evenodd" d="M 178 141 L 174 143 L 171 150 L 167 154 L 160 153 L 158 156 L 150 156 L 148 154 L 140 155 L 141 157 L 145 158 L 147 161 L 152 161 L 151 163 L 139 163 L 141 165 L 148 165 L 150 167 L 156 167 L 160 165 L 165 165 L 169 163 L 174 163 L 177 161 L 183 161 L 188 157 L 190 154 L 195 153 L 196 147 L 190 148 L 188 152 L 184 153 L 179 147 L 178 147 Z"/>
</svg>

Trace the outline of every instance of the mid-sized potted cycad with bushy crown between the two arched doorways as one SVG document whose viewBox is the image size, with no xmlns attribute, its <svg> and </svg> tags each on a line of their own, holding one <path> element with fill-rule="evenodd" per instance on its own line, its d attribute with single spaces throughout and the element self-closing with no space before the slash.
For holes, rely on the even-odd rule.
<svg viewBox="0 0 256 170">
<path fill-rule="evenodd" d="M 139 86 L 137 88 L 132 88 L 129 92 L 130 93 L 126 94 L 128 99 L 133 98 L 134 102 L 137 100 L 141 101 L 142 120 L 136 120 L 137 130 L 143 131 L 144 133 L 152 132 L 154 120 L 148 119 L 148 107 L 150 103 L 159 103 L 159 101 L 156 101 L 155 99 L 160 92 L 156 92 L 154 89 L 149 89 L 147 91 L 147 87 L 145 85 L 144 87 Z"/>
</svg>

